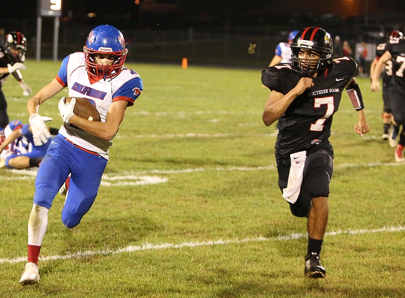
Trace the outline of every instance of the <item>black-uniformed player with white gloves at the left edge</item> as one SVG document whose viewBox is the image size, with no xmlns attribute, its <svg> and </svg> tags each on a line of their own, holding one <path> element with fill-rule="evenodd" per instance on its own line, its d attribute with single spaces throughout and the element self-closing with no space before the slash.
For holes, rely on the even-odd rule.
<svg viewBox="0 0 405 298">
<path fill-rule="evenodd" d="M 6 127 L 9 124 L 7 115 L 7 101 L 2 91 L 3 84 L 10 73 L 20 83 L 23 89 L 23 95 L 28 96 L 31 88 L 25 84 L 22 79 L 20 69 L 25 69 L 25 51 L 27 50 L 27 41 L 20 32 L 10 32 L 6 35 L 4 46 L 0 48 L 0 127 Z"/>
</svg>

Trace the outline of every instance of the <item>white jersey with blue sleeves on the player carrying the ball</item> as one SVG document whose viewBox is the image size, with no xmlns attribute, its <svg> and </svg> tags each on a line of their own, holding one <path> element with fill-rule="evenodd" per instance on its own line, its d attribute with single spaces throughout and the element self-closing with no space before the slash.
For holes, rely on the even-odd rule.
<svg viewBox="0 0 405 298">
<path fill-rule="evenodd" d="M 84 97 L 92 102 L 100 113 L 101 122 L 105 122 L 108 108 L 113 101 L 126 100 L 131 106 L 143 89 L 139 74 L 129 68 L 124 68 L 112 79 L 91 82 L 85 67 L 83 52 L 72 53 L 63 59 L 56 80 L 62 86 L 69 88 L 69 97 Z M 108 159 L 112 140 L 103 140 L 69 125 L 62 125 L 59 133 L 76 145 Z"/>
</svg>

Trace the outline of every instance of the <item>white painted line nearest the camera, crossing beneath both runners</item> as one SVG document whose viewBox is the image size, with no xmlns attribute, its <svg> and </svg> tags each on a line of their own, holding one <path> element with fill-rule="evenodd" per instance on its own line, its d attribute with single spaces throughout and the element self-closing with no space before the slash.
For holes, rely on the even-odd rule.
<svg viewBox="0 0 405 298">
<path fill-rule="evenodd" d="M 400 232 L 405 231 L 405 227 L 397 226 L 397 227 L 383 227 L 380 229 L 361 229 L 361 230 L 346 230 L 346 231 L 336 231 L 336 232 L 328 232 L 325 236 L 336 236 L 336 235 L 358 235 L 358 234 L 371 234 L 371 233 L 380 233 L 380 232 Z M 224 245 L 224 244 L 240 244 L 240 243 L 247 243 L 247 242 L 260 242 L 260 241 L 270 241 L 270 240 L 295 240 L 307 237 L 307 234 L 302 233 L 293 233 L 287 236 L 278 236 L 273 238 L 267 238 L 263 236 L 252 237 L 252 238 L 245 238 L 245 239 L 218 239 L 213 241 L 190 241 L 190 242 L 182 242 L 179 244 L 174 243 L 160 243 L 160 244 L 152 244 L 152 243 L 144 243 L 141 245 L 129 245 L 124 248 L 118 249 L 103 249 L 103 250 L 87 250 L 87 251 L 77 251 L 74 253 L 67 253 L 65 255 L 48 255 L 39 257 L 41 262 L 45 262 L 48 260 L 58 260 L 58 259 L 71 259 L 71 258 L 82 258 L 88 257 L 92 255 L 112 255 L 112 254 L 120 254 L 123 252 L 136 252 L 136 251 L 144 251 L 144 250 L 159 250 L 159 249 L 169 249 L 169 248 L 185 248 L 185 247 L 201 247 L 201 246 L 215 246 L 215 245 Z M 0 264 L 16 264 L 21 262 L 26 262 L 26 256 L 20 256 L 16 258 L 0 258 Z"/>
</svg>

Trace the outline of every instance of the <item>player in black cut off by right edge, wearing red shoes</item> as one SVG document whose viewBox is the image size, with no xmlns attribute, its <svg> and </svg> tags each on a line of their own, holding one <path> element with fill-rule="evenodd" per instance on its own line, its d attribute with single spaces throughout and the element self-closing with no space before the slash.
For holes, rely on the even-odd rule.
<svg viewBox="0 0 405 298">
<path fill-rule="evenodd" d="M 396 38 L 387 44 L 387 51 L 378 60 L 371 78 L 370 89 L 380 91 L 379 74 L 385 63 L 392 60 L 392 79 L 389 83 L 389 100 L 393 115 L 393 124 L 402 125 L 402 132 L 399 135 L 398 145 L 394 152 L 395 161 L 404 162 L 403 147 L 405 146 L 405 40 Z"/>
</svg>

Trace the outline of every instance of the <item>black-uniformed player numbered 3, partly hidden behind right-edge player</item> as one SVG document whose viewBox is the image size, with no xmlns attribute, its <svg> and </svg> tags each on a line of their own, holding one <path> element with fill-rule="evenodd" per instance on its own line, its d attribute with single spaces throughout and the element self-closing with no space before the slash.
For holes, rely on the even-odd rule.
<svg viewBox="0 0 405 298">
<path fill-rule="evenodd" d="M 377 45 L 376 48 L 376 58 L 371 62 L 370 65 L 370 77 L 373 78 L 374 70 L 376 68 L 377 62 L 380 57 L 385 53 L 387 44 L 395 43 L 397 39 L 403 39 L 402 32 L 398 30 L 392 30 L 390 34 L 387 35 L 386 43 L 382 43 Z M 392 78 L 392 61 L 389 60 L 384 65 L 384 71 L 382 73 L 382 81 L 383 81 L 383 140 L 389 140 L 389 144 L 391 147 L 397 146 L 396 137 L 399 132 L 399 127 L 391 124 L 392 113 L 391 113 L 391 105 L 389 102 L 389 81 Z M 390 126 L 392 125 L 392 129 L 390 130 Z"/>
</svg>

